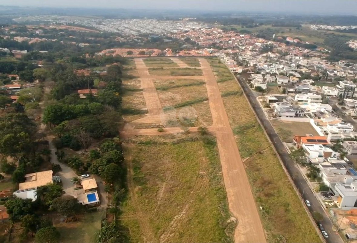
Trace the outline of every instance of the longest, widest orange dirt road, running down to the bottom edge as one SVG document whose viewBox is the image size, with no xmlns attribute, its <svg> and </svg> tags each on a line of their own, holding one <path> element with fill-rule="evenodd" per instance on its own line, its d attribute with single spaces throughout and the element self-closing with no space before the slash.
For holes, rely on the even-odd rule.
<svg viewBox="0 0 357 243">
<path fill-rule="evenodd" d="M 228 206 L 231 213 L 238 220 L 238 226 L 234 233 L 235 242 L 266 242 L 258 209 L 223 105 L 215 75 L 206 59 L 200 58 L 199 60 L 203 75 L 205 76 L 213 127 L 216 128 L 215 135 L 220 153 Z"/>
</svg>

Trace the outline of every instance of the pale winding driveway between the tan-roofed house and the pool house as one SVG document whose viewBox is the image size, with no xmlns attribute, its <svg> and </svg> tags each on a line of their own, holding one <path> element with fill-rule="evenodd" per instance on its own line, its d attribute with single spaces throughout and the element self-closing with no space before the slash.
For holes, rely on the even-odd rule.
<svg viewBox="0 0 357 243">
<path fill-rule="evenodd" d="M 77 174 L 71 169 L 69 166 L 67 166 L 64 163 L 61 163 L 57 159 L 56 155 L 56 147 L 53 145 L 52 141 L 49 139 L 49 147 L 51 150 L 51 163 L 54 164 L 59 164 L 62 168 L 62 171 L 58 172 L 58 175 L 62 179 L 62 188 L 66 193 L 74 192 L 74 184 L 71 182 L 71 179 L 73 177 L 77 177 Z"/>
</svg>

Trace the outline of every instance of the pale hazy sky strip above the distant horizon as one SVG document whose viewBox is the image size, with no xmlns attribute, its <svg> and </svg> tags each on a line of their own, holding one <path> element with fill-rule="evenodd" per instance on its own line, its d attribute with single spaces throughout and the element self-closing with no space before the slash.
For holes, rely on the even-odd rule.
<svg viewBox="0 0 357 243">
<path fill-rule="evenodd" d="M 357 15 L 357 0 L 1 0 L 0 5 L 193 9 Z"/>
</svg>

